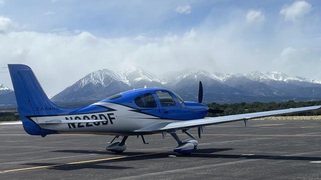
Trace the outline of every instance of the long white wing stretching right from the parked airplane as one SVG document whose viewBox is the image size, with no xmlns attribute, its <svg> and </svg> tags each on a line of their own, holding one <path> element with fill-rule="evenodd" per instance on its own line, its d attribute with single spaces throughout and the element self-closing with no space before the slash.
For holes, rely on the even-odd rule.
<svg viewBox="0 0 321 180">
<path fill-rule="evenodd" d="M 210 118 L 194 119 L 194 120 L 182 120 L 182 121 L 168 122 L 168 123 L 157 123 L 135 131 L 137 132 L 171 131 L 176 129 L 186 129 L 191 127 L 233 122 L 233 121 L 239 121 L 239 120 L 247 120 L 247 119 L 259 118 L 259 117 L 285 115 L 290 113 L 305 112 L 305 111 L 311 111 L 311 110 L 317 110 L 317 109 L 321 109 L 321 105 L 254 112 L 254 113 L 245 113 L 245 114 L 237 114 L 237 115 L 227 115 L 227 116 L 220 116 L 220 117 L 210 117 Z"/>
</svg>

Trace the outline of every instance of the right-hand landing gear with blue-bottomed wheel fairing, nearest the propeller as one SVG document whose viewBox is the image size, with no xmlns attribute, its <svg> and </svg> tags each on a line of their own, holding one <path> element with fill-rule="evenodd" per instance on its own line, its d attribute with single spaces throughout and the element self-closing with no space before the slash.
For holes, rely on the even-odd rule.
<svg viewBox="0 0 321 180">
<path fill-rule="evenodd" d="M 187 131 L 187 129 L 184 129 L 183 132 L 186 133 L 191 138 L 182 141 L 180 137 L 176 134 L 176 132 L 169 132 L 179 144 L 177 147 L 174 148 L 174 152 L 178 152 L 182 154 L 190 154 L 193 152 L 194 149 L 197 148 L 198 141 L 192 134 L 190 134 Z"/>
</svg>

